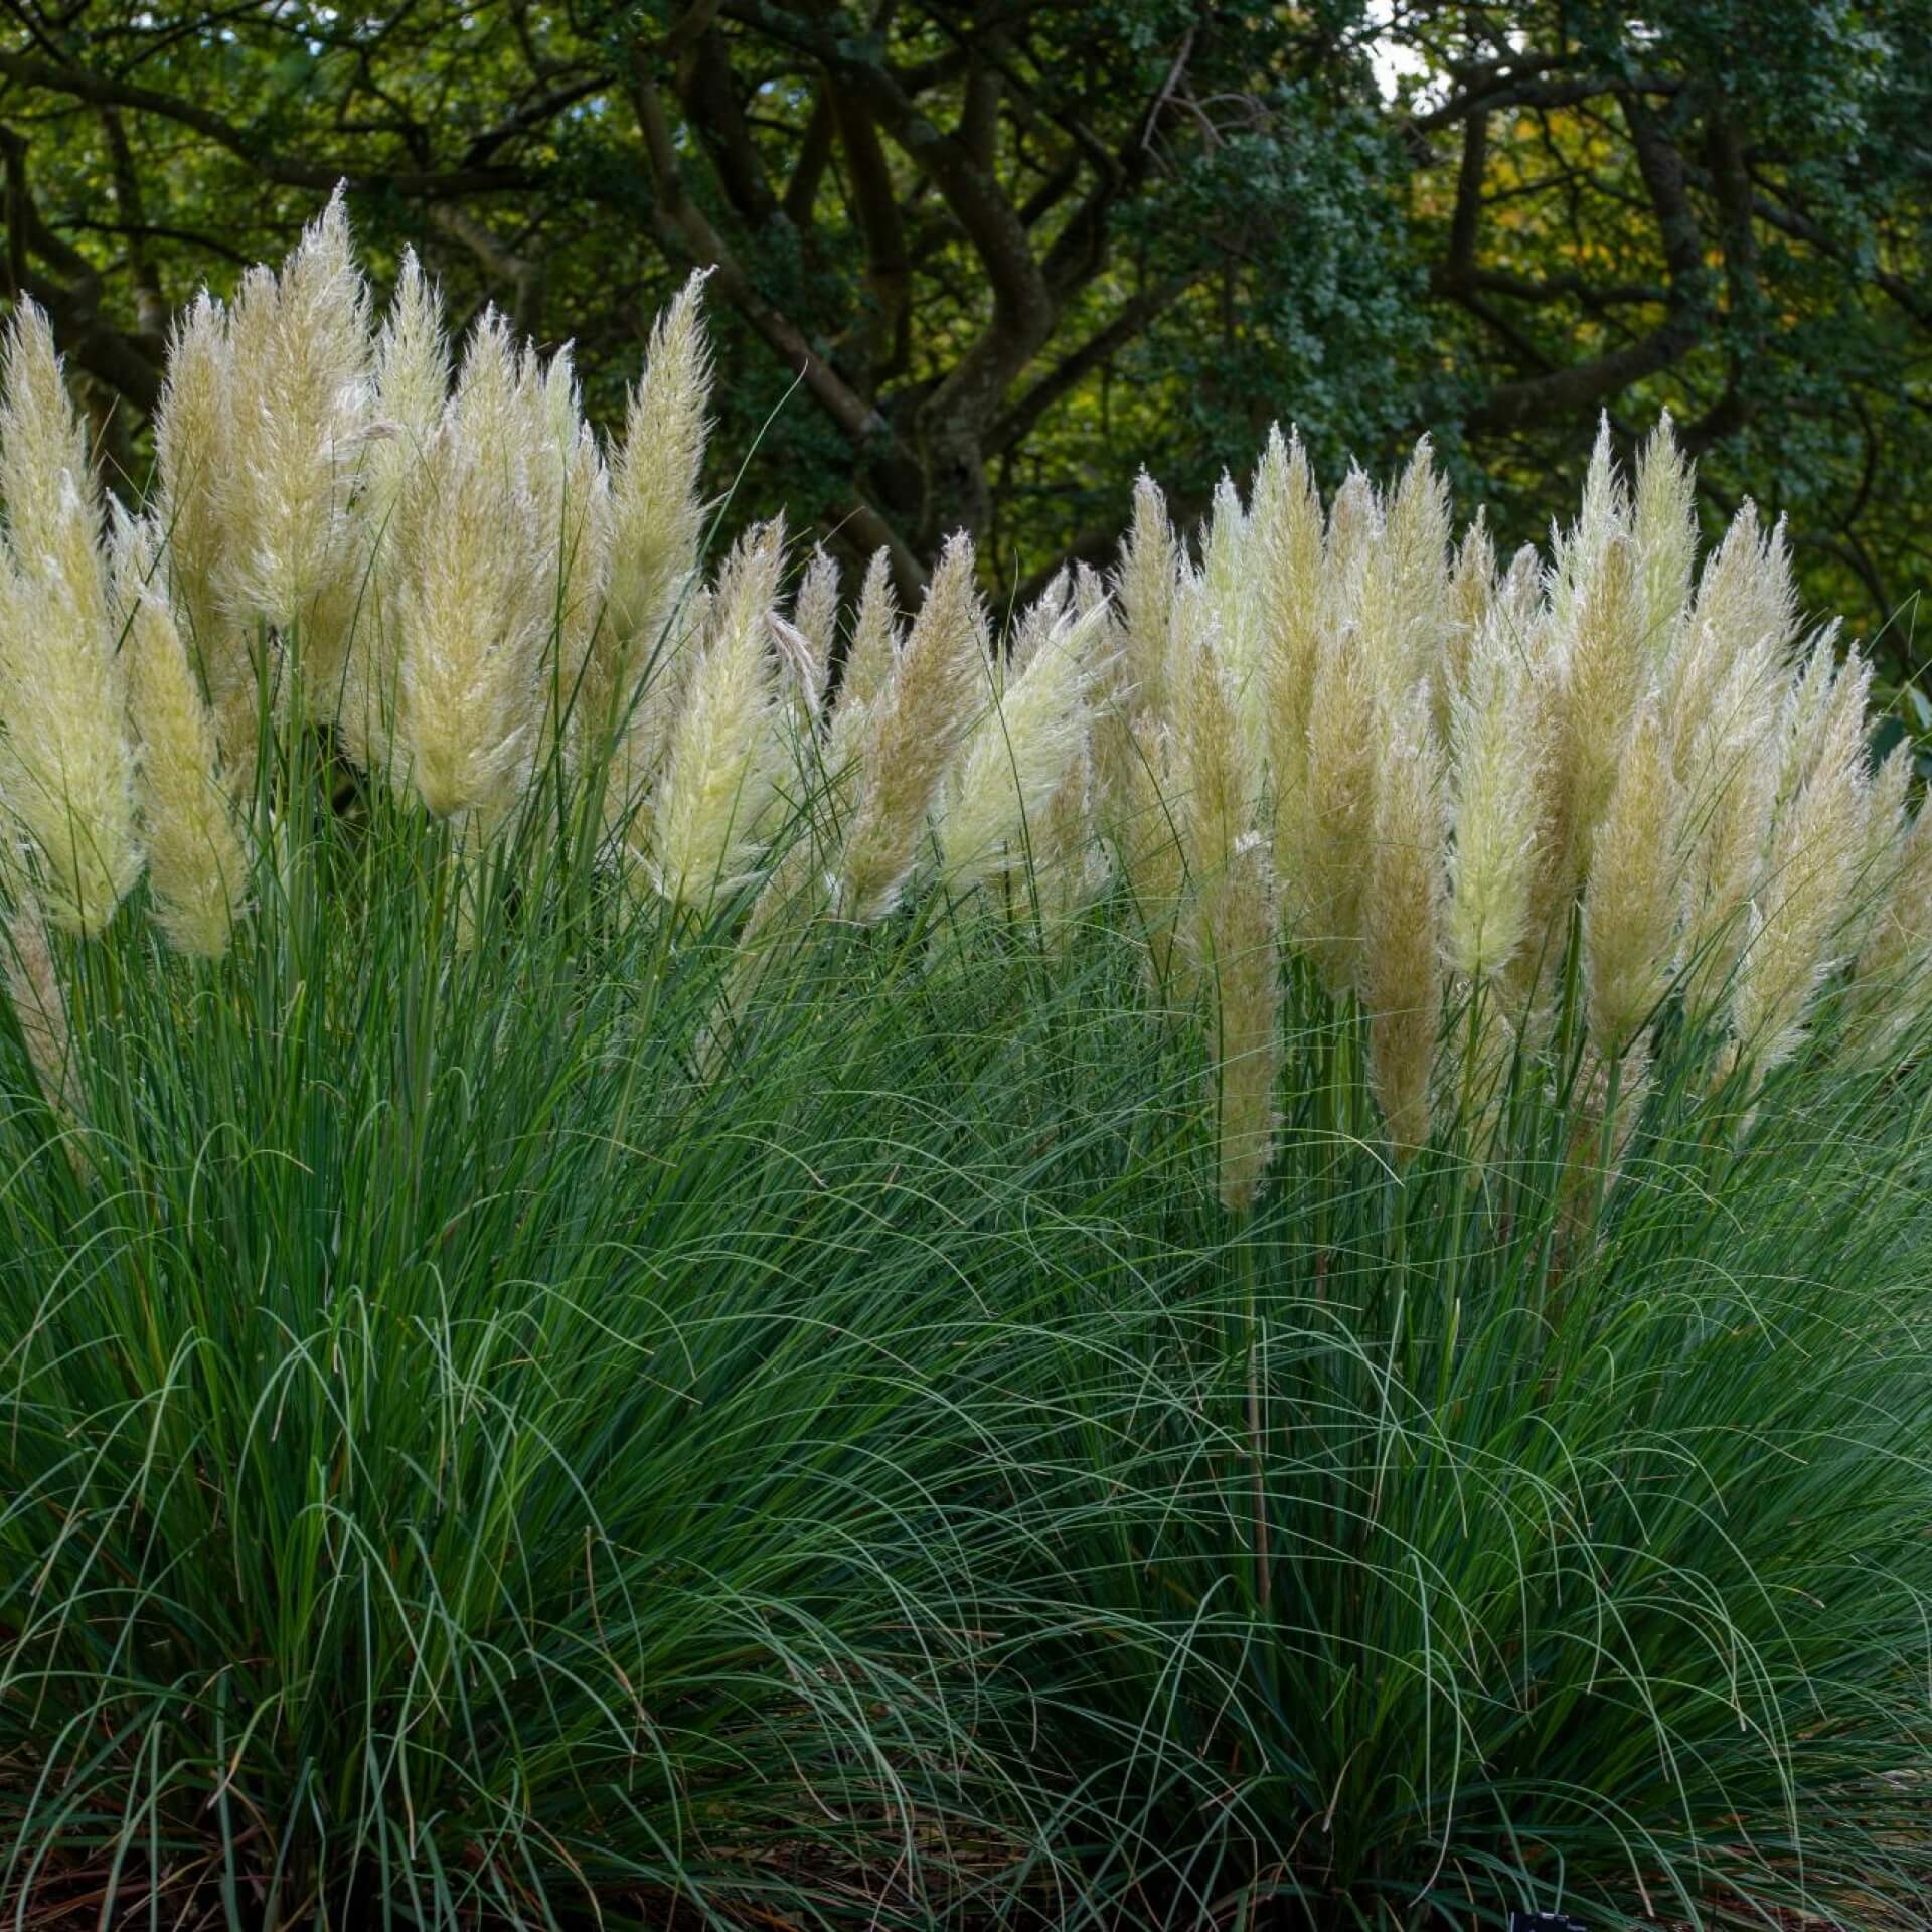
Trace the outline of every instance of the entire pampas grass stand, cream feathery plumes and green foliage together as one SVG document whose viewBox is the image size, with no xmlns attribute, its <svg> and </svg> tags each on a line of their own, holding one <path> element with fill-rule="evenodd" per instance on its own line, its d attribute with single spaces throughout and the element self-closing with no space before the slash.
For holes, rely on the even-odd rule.
<svg viewBox="0 0 1932 1932">
<path fill-rule="evenodd" d="M 1928 852 L 1665 423 L 995 638 L 340 207 L 0 396 L 0 1922 L 1899 1922 Z"/>
</svg>

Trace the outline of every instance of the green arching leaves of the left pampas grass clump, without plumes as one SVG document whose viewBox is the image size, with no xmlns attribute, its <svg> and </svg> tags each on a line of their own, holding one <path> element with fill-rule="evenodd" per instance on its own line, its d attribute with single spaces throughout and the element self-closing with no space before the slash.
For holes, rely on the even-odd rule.
<svg viewBox="0 0 1932 1932">
<path fill-rule="evenodd" d="M 699 1082 L 703 935 L 456 954 L 439 844 L 325 829 L 213 974 L 97 951 L 73 1159 L 15 1103 L 0 1891 L 910 1913 L 1010 1828 L 933 1403 L 1068 1265 L 985 1163 L 1037 1095 L 833 983 Z"/>
</svg>

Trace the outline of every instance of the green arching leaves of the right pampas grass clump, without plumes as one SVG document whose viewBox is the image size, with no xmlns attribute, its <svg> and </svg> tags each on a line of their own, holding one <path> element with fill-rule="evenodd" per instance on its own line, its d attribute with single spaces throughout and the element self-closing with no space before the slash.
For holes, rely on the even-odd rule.
<svg viewBox="0 0 1932 1932">
<path fill-rule="evenodd" d="M 1922 1897 L 1918 1122 L 1874 1099 L 1660 1132 L 1582 1252 L 1354 1157 L 1325 1233 L 1333 1167 L 1090 1323 L 1020 1455 L 1130 1922 Z"/>
</svg>

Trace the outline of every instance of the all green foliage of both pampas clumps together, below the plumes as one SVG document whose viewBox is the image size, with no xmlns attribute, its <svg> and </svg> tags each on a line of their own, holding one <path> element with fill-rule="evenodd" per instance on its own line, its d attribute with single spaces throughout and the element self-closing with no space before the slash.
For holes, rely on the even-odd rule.
<svg viewBox="0 0 1932 1932">
<path fill-rule="evenodd" d="M 8 1028 L 14 1922 L 1932 1878 L 1917 1074 L 1687 1078 L 1584 1221 L 1563 1103 L 1397 1169 L 1308 1026 L 1231 1227 L 1119 902 L 827 931 L 719 1063 L 715 931 L 448 877 L 311 813 L 220 964 L 60 943 L 70 1117 Z"/>
</svg>

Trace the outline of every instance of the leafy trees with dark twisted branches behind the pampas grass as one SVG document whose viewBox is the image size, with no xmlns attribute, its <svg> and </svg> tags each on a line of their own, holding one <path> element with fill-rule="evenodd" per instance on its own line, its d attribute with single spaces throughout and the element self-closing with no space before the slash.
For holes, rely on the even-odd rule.
<svg viewBox="0 0 1932 1932">
<path fill-rule="evenodd" d="M 371 263 L 612 417 L 713 267 L 734 512 L 912 583 L 1103 558 L 1271 419 L 1435 435 L 1534 535 L 1607 412 L 1907 647 L 1932 568 L 1932 0 L 6 0 L 8 272 L 139 473 L 170 313 L 338 180 Z"/>
</svg>

